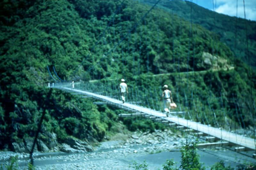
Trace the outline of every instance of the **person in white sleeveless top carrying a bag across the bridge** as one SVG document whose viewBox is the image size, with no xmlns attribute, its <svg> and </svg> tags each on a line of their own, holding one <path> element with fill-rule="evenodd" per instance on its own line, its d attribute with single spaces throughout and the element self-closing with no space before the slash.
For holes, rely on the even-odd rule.
<svg viewBox="0 0 256 170">
<path fill-rule="evenodd" d="M 166 112 L 166 116 L 169 116 L 170 109 L 176 108 L 176 104 L 172 100 L 172 92 L 168 90 L 168 86 L 164 85 L 164 91 L 162 97 L 164 98 L 164 111 Z"/>
</svg>

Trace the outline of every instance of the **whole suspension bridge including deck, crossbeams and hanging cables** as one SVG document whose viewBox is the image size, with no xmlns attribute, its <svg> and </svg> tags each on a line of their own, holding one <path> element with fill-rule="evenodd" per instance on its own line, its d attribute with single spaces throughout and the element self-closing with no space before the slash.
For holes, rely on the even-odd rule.
<svg viewBox="0 0 256 170">
<path fill-rule="evenodd" d="M 116 44 L 114 44 L 113 48 L 111 48 L 105 55 L 103 55 L 103 57 L 100 59 L 100 60 L 103 60 L 104 58 L 108 57 L 108 55 L 110 53 L 112 53 L 115 48 L 117 46 L 119 46 L 122 41 L 124 41 L 125 39 L 127 39 L 128 36 L 130 36 L 131 32 L 132 31 L 135 31 L 137 26 L 139 25 L 139 23 L 143 22 L 144 21 L 144 18 L 147 16 L 147 14 L 156 6 L 156 4 L 159 2 L 160 0 L 158 0 L 155 5 L 150 8 L 150 10 L 147 11 L 147 13 L 137 22 L 135 23 L 132 28 L 130 30 L 127 31 L 127 34 L 125 36 L 123 36 L 121 38 L 121 40 L 119 40 Z M 124 2 L 124 1 L 123 1 Z M 121 5 L 123 4 L 123 2 L 121 3 Z M 117 10 L 118 11 L 118 10 Z M 117 12 L 116 11 L 116 12 Z M 113 18 L 111 18 L 110 20 L 113 20 L 115 15 L 116 15 L 116 12 L 113 16 Z M 215 18 L 214 18 L 215 19 Z M 108 28 L 110 23 L 108 23 L 106 29 L 103 31 L 102 34 L 100 34 L 99 36 L 99 39 L 98 41 L 96 42 L 95 46 L 99 43 L 101 37 L 103 37 L 106 33 L 106 30 Z M 215 24 L 215 23 L 214 23 Z M 191 27 L 192 27 L 192 23 L 191 23 Z M 158 28 L 157 28 L 158 29 Z M 192 30 L 192 29 L 191 29 Z M 190 31 L 191 31 L 190 30 Z M 192 33 L 190 33 L 190 35 L 192 36 Z M 157 38 L 157 41 L 158 41 L 158 38 Z M 192 43 L 189 39 L 189 43 Z M 94 47 L 92 47 L 92 50 L 94 49 Z M 190 44 L 189 44 L 190 46 Z M 173 46 L 174 48 L 174 46 Z M 122 49 L 122 48 L 121 48 Z M 92 53 L 92 50 L 90 51 L 90 53 L 88 54 L 88 56 Z M 213 49 L 213 51 L 217 49 Z M 189 58 L 189 52 L 188 52 L 188 58 Z M 88 57 L 87 56 L 87 57 Z M 124 65 L 124 58 L 122 58 L 123 60 L 123 65 Z M 134 58 L 133 58 L 134 60 Z M 189 60 L 188 60 L 189 61 Z M 90 66 L 88 69 L 87 69 L 87 72 L 91 72 L 91 70 L 100 63 L 100 61 L 96 62 L 96 64 Z M 148 69 L 148 56 L 147 56 L 147 69 Z M 82 66 L 82 64 L 78 67 L 80 68 Z M 178 65 L 178 70 L 180 70 L 180 65 Z M 77 73 L 78 71 L 78 68 L 75 70 L 74 72 L 74 75 Z M 130 103 L 122 103 L 120 100 L 116 99 L 116 98 L 113 98 L 113 96 L 115 95 L 119 95 L 119 94 L 111 94 L 111 95 L 103 95 L 103 91 L 104 91 L 104 88 L 105 87 L 102 87 L 102 88 L 94 88 L 94 89 L 103 89 L 100 93 L 97 92 L 97 91 L 89 91 L 89 90 L 84 90 L 84 89 L 72 89 L 72 88 L 69 88 L 69 83 L 68 84 L 65 84 L 65 82 L 60 79 L 60 77 L 57 75 L 56 73 L 56 70 L 55 68 L 53 67 L 53 71 L 54 71 L 54 74 L 55 74 L 55 78 L 53 77 L 53 75 L 51 74 L 50 72 L 50 69 L 49 67 L 47 67 L 48 69 L 48 73 L 50 75 L 50 77 L 55 81 L 55 82 L 58 82 L 58 81 L 61 81 L 61 83 L 56 83 L 56 85 L 54 86 L 54 88 L 58 88 L 60 90 L 63 90 L 63 91 L 68 91 L 68 92 L 71 92 L 72 94 L 80 94 L 80 95 L 85 95 L 85 96 L 88 96 L 88 97 L 93 97 L 97 100 L 100 100 L 101 102 L 95 102 L 95 104 L 109 104 L 109 105 L 114 105 L 118 108 L 121 108 L 123 110 L 126 110 L 128 111 L 129 113 L 126 113 L 126 114 L 120 114 L 119 116 L 120 117 L 145 117 L 145 118 L 149 118 L 149 119 L 152 119 L 154 121 L 157 121 L 157 122 L 160 122 L 160 123 L 163 123 L 163 124 L 166 124 L 167 126 L 170 126 L 170 127 L 173 127 L 173 128 L 177 128 L 179 130 L 182 130 L 184 132 L 187 132 L 187 133 L 191 133 L 197 137 L 204 137 L 204 139 L 206 141 L 208 141 L 208 143 L 204 143 L 204 144 L 199 144 L 199 147 L 216 147 L 216 146 L 235 146 L 235 150 L 237 152 L 241 152 L 241 151 L 249 151 L 249 150 L 253 150 L 255 151 L 256 150 L 256 143 L 255 143 L 255 139 L 253 138 L 250 138 L 248 137 L 247 135 L 241 135 L 241 134 L 238 134 L 234 131 L 227 131 L 225 130 L 224 128 L 221 128 L 221 127 L 212 127 L 209 123 L 208 123 L 208 120 L 207 120 L 207 117 L 205 116 L 205 113 L 204 113 L 204 118 L 202 118 L 202 121 L 204 121 L 205 119 L 205 122 L 204 124 L 201 123 L 201 122 L 196 122 L 193 120 L 193 118 L 191 118 L 191 116 L 189 115 L 189 111 L 188 113 L 185 112 L 185 111 L 182 111 L 182 109 L 180 108 L 180 111 L 177 111 L 177 112 L 172 112 L 172 116 L 170 117 L 166 117 L 165 116 L 165 113 L 161 112 L 161 110 L 159 109 L 159 106 L 158 106 L 158 109 L 152 109 L 151 107 L 145 107 L 145 105 L 138 105 L 138 101 L 133 101 L 133 100 L 130 100 Z M 233 69 L 233 68 L 232 68 Z M 218 67 L 218 71 L 219 71 L 219 67 Z M 138 74 L 140 73 L 140 68 L 138 67 Z M 180 73 L 180 72 L 179 72 Z M 187 69 L 187 72 L 188 73 L 188 69 Z M 191 73 L 195 73 L 194 72 L 194 65 L 193 65 L 193 71 L 191 71 Z M 155 76 L 155 75 L 154 75 Z M 160 74 L 159 74 L 160 76 Z M 93 89 L 93 88 L 92 88 Z M 113 90 L 113 89 L 112 89 Z M 157 94 L 157 92 L 155 91 L 155 94 Z M 153 95 L 155 95 L 153 94 Z M 185 92 L 184 92 L 184 96 L 187 100 L 187 97 L 185 95 Z M 193 96 L 193 94 L 192 94 Z M 220 94 L 221 96 L 221 94 Z M 148 99 L 145 99 L 145 100 L 148 100 Z M 221 99 L 222 100 L 222 99 Z M 209 101 L 207 99 L 207 102 L 208 102 L 208 105 L 209 104 Z M 137 104 L 133 104 L 133 103 L 137 103 Z M 147 101 L 147 105 L 149 102 Z M 154 101 L 152 100 L 152 103 L 154 103 Z M 157 104 L 157 103 L 156 103 Z M 235 103 L 235 105 L 239 108 L 239 104 L 238 103 Z M 157 107 L 157 106 L 156 106 Z M 212 110 L 212 108 L 209 106 L 209 110 Z M 238 116 L 238 109 L 236 109 L 236 116 L 237 118 L 239 117 Z M 239 109 L 240 110 L 240 109 Z M 225 114 L 225 111 L 223 112 Z M 188 114 L 188 117 L 190 119 L 186 119 L 185 116 L 184 117 L 180 117 L 180 116 L 174 116 L 175 114 Z M 202 114 L 202 113 L 201 113 Z M 215 120 L 215 123 L 218 124 L 217 120 L 216 120 L 216 115 L 215 113 L 212 111 L 212 114 L 214 115 L 213 116 L 213 119 Z M 224 115 L 223 115 L 224 116 Z M 241 116 L 241 115 L 240 115 Z M 198 120 L 198 115 L 196 113 L 196 117 L 197 117 L 197 120 Z M 202 116 L 203 117 L 203 116 Z M 226 117 L 226 115 L 225 115 Z M 241 116 L 242 117 L 242 116 Z M 253 117 L 252 117 L 253 119 Z M 243 117 L 241 119 L 243 121 Z M 254 119 L 253 119 L 254 120 Z M 239 124 L 240 124 L 240 127 L 242 129 L 242 123 L 244 124 L 244 121 L 241 123 L 240 122 L 240 118 L 238 118 L 238 121 L 239 121 Z M 218 124 L 219 126 L 219 124 Z M 255 136 L 254 136 L 255 138 Z M 253 153 L 252 155 L 254 158 L 256 158 L 256 154 Z"/>
</svg>

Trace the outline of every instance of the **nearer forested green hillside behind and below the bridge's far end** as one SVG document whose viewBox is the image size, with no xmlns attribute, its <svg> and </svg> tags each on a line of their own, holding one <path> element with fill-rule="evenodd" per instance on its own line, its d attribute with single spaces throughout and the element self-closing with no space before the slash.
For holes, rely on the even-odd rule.
<svg viewBox="0 0 256 170">
<path fill-rule="evenodd" d="M 255 98 L 255 73 L 234 58 L 218 34 L 200 25 L 159 8 L 141 19 L 151 7 L 136 1 L 24 0 L 0 6 L 1 149 L 34 137 L 44 109 L 42 140 L 50 138 L 48 132 L 56 133 L 60 142 L 68 135 L 102 140 L 117 120 L 113 108 L 98 108 L 91 99 L 46 88 L 54 82 L 47 66 L 55 66 L 64 80 L 124 77 L 145 88 L 163 83 L 182 91 L 186 87 L 184 93 L 196 91 L 195 98 L 205 107 L 207 95 L 222 94 L 223 107 L 217 102 L 211 107 L 216 112 L 224 108 L 228 120 L 238 124 L 230 98 L 237 100 L 243 106 L 244 128 L 253 126 L 247 114 Z M 199 74 L 184 74 L 188 72 Z M 162 73 L 175 74 L 148 76 Z M 192 105 L 184 104 L 187 109 Z"/>
</svg>

